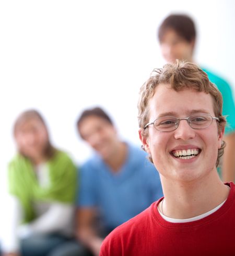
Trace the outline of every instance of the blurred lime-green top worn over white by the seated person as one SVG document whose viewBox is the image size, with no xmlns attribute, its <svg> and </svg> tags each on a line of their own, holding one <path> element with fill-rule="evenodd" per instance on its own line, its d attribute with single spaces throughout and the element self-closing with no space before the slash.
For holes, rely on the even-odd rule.
<svg viewBox="0 0 235 256">
<path fill-rule="evenodd" d="M 41 187 L 31 161 L 17 154 L 8 166 L 9 192 L 18 197 L 24 209 L 24 222 L 36 217 L 34 202 L 74 203 L 76 193 L 76 168 L 68 155 L 56 150 L 46 163 L 50 185 Z"/>
</svg>

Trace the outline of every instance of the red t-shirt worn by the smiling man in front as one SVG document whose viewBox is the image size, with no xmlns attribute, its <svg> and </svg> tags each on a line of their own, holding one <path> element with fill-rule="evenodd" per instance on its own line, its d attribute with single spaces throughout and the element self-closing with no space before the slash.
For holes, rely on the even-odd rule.
<svg viewBox="0 0 235 256">
<path fill-rule="evenodd" d="M 185 223 L 164 220 L 151 204 L 105 238 L 100 256 L 235 255 L 235 185 L 215 213 Z"/>
</svg>

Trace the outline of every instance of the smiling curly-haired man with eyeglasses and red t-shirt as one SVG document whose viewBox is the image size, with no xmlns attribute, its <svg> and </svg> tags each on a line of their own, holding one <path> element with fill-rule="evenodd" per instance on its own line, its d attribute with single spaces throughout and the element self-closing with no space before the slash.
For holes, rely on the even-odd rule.
<svg viewBox="0 0 235 256">
<path fill-rule="evenodd" d="M 100 255 L 235 255 L 235 186 L 216 170 L 226 124 L 216 86 L 195 64 L 164 65 L 142 86 L 138 113 L 164 197 L 111 232 Z"/>
</svg>

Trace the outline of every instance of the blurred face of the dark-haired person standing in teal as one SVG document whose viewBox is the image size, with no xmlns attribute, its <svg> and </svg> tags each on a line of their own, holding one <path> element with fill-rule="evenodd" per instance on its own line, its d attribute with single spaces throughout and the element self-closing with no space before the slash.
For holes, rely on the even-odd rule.
<svg viewBox="0 0 235 256">
<path fill-rule="evenodd" d="M 168 63 L 173 63 L 176 59 L 192 62 L 194 41 L 188 42 L 179 36 L 173 29 L 168 29 L 161 42 L 161 53 Z"/>
</svg>

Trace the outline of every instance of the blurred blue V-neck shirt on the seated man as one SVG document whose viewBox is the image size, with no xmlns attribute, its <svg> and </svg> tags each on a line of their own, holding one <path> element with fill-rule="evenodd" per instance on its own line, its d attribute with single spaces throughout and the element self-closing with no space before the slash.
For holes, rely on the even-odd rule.
<svg viewBox="0 0 235 256">
<path fill-rule="evenodd" d="M 97 207 L 105 228 L 112 229 L 162 197 L 158 171 L 146 153 L 130 144 L 118 172 L 94 155 L 80 169 L 79 207 Z"/>
</svg>

